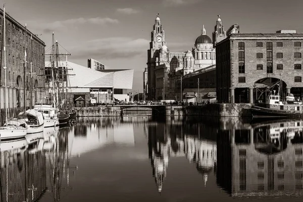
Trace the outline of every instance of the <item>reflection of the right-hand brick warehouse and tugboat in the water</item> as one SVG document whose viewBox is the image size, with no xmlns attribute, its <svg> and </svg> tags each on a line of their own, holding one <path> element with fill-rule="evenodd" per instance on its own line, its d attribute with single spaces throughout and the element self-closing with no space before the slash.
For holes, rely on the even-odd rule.
<svg viewBox="0 0 303 202">
<path fill-rule="evenodd" d="M 217 135 L 217 184 L 231 196 L 301 195 L 303 120 L 237 124 Z"/>
</svg>

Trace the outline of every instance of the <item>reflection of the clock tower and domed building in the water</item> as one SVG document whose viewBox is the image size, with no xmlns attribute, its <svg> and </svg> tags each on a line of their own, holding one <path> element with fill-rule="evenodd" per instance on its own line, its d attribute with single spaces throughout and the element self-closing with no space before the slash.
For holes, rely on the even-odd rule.
<svg viewBox="0 0 303 202">
<path fill-rule="evenodd" d="M 204 176 L 216 174 L 216 129 L 196 119 L 148 123 L 148 154 L 157 189 L 161 193 L 170 157 L 186 157 Z"/>
</svg>

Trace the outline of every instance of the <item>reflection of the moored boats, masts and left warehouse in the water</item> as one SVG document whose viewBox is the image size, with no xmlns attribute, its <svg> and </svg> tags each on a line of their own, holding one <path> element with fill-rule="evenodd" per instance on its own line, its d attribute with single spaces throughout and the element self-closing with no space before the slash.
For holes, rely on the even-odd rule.
<svg viewBox="0 0 303 202">
<path fill-rule="evenodd" d="M 68 137 L 68 130 L 46 128 L 1 141 L 0 201 L 39 201 L 48 193 L 60 201 L 62 184 L 68 185 Z"/>
</svg>

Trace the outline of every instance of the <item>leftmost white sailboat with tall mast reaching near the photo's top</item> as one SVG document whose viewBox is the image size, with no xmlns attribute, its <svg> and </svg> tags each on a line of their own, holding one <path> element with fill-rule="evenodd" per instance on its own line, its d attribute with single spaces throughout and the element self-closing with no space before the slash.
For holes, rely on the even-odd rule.
<svg viewBox="0 0 303 202">
<path fill-rule="evenodd" d="M 24 138 L 27 133 L 26 123 L 22 123 L 21 121 L 8 121 L 8 107 L 7 107 L 7 96 L 8 96 L 8 88 L 7 88 L 7 67 L 6 67 L 6 14 L 5 14 L 5 5 L 3 6 L 3 27 L 4 27 L 4 70 L 5 70 L 5 114 L 6 114 L 6 123 L 4 126 L 0 127 L 1 139 L 16 139 L 16 138 Z"/>
</svg>

